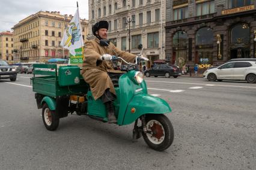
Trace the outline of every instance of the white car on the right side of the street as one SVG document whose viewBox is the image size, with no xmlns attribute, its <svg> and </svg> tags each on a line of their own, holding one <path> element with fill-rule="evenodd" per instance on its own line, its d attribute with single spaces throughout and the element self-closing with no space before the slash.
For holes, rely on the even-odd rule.
<svg viewBox="0 0 256 170">
<path fill-rule="evenodd" d="M 256 59 L 234 59 L 216 68 L 207 69 L 203 77 L 209 81 L 246 80 L 256 83 Z"/>
</svg>

